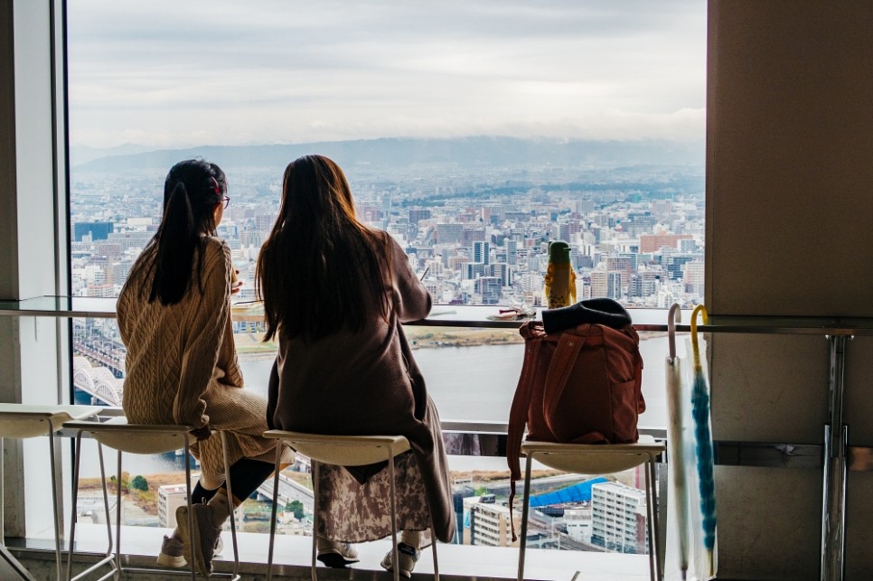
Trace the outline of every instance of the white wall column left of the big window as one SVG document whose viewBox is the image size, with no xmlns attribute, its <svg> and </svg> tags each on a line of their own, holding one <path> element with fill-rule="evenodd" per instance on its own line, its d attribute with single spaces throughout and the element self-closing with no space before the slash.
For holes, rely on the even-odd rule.
<svg viewBox="0 0 873 581">
<path fill-rule="evenodd" d="M 0 0 L 0 299 L 56 295 L 65 288 L 66 229 L 57 226 L 62 204 L 55 177 L 55 4 Z M 67 374 L 59 372 L 59 347 L 66 321 L 0 319 L 0 401 L 64 401 Z M 53 537 L 46 444 L 5 443 L 9 535 Z"/>
</svg>

